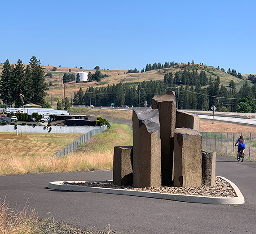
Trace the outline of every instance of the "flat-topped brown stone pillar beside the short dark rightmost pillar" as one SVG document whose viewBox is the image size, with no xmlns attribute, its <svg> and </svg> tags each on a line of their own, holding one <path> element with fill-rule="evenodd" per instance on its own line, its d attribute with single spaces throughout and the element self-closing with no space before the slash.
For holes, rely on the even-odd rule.
<svg viewBox="0 0 256 234">
<path fill-rule="evenodd" d="M 202 136 L 198 131 L 177 128 L 174 133 L 174 180 L 177 187 L 202 185 Z"/>
</svg>

